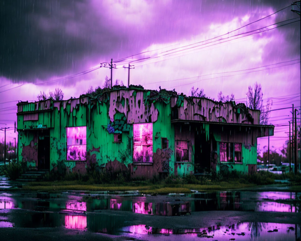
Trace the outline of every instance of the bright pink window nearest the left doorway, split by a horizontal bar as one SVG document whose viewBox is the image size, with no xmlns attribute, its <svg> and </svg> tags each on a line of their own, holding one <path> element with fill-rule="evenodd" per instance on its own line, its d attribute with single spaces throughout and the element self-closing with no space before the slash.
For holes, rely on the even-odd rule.
<svg viewBox="0 0 301 241">
<path fill-rule="evenodd" d="M 86 130 L 85 126 L 67 127 L 67 160 L 86 160 Z"/>
</svg>

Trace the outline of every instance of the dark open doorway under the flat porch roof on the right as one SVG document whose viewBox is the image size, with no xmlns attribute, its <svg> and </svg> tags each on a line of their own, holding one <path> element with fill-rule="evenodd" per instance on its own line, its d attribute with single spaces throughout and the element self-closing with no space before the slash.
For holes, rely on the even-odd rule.
<svg viewBox="0 0 301 241">
<path fill-rule="evenodd" d="M 206 140 L 203 128 L 197 127 L 194 133 L 194 174 L 210 172 L 210 142 Z"/>
</svg>

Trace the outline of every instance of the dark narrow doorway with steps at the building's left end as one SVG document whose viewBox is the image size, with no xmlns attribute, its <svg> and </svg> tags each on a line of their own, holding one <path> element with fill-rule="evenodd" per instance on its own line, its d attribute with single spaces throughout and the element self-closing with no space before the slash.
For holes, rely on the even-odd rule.
<svg viewBox="0 0 301 241">
<path fill-rule="evenodd" d="M 49 130 L 38 132 L 38 170 L 50 169 L 50 137 Z"/>
</svg>

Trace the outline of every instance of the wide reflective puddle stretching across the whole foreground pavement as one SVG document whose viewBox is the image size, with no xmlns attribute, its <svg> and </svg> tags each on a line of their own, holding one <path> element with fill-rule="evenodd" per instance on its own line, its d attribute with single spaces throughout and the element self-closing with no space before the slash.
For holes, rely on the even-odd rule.
<svg viewBox="0 0 301 241">
<path fill-rule="evenodd" d="M 147 226 L 139 220 L 147 216 L 182 216 L 178 218 L 183 218 L 185 225 L 192 213 L 200 211 L 300 212 L 300 201 L 296 202 L 300 195 L 291 192 L 201 192 L 164 196 L 0 192 L 0 228 L 65 227 L 142 240 L 149 240 L 150 235 L 160 240 L 170 240 L 170 235 L 172 240 L 281 240 L 284 236 L 290 240 L 300 238 L 300 225 L 237 223 L 225 227 L 164 229 Z"/>
</svg>

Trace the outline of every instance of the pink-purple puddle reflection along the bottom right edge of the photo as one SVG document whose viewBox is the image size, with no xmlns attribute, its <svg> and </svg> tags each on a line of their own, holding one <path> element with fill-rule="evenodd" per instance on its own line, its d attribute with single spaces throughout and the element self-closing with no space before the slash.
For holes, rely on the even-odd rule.
<svg viewBox="0 0 301 241">
<path fill-rule="evenodd" d="M 299 231 L 298 231 L 299 230 Z M 159 229 L 143 224 L 123 227 L 120 231 L 122 235 L 138 237 L 141 239 L 149 238 L 153 234 L 176 234 L 174 236 L 160 236 L 160 239 L 189 239 L 189 238 L 214 238 L 215 240 L 299 240 L 300 225 L 278 224 L 278 223 L 259 223 L 244 222 L 230 226 L 213 226 L 198 229 Z"/>
</svg>

